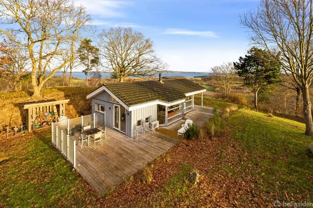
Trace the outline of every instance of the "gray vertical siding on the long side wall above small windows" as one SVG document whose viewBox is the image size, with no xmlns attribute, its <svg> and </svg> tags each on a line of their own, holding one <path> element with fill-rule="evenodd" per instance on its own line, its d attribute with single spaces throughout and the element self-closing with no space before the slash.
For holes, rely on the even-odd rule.
<svg viewBox="0 0 313 208">
<path fill-rule="evenodd" d="M 130 113 L 130 117 L 129 117 L 129 119 L 131 120 L 131 126 L 129 126 L 130 127 L 129 130 L 131 130 L 131 134 L 130 135 L 126 134 L 126 135 L 130 137 L 136 136 L 135 127 L 137 125 L 138 120 L 142 120 L 143 122 L 145 122 L 145 119 L 147 117 L 150 117 L 150 122 L 156 121 L 156 111 L 157 111 L 156 104 L 148 106 L 148 107 L 143 107 L 137 110 L 133 110 Z"/>
</svg>

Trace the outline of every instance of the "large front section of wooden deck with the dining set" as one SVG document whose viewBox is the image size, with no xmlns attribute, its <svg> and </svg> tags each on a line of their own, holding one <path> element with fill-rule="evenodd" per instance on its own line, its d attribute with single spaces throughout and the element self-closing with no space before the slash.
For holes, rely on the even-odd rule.
<svg viewBox="0 0 313 208">
<path fill-rule="evenodd" d="M 90 147 L 84 143 L 81 148 L 77 142 L 75 168 L 91 187 L 103 194 L 179 142 L 156 131 L 140 135 L 137 140 L 107 128 L 103 146 L 96 143 L 95 149 L 93 143 Z"/>
</svg>

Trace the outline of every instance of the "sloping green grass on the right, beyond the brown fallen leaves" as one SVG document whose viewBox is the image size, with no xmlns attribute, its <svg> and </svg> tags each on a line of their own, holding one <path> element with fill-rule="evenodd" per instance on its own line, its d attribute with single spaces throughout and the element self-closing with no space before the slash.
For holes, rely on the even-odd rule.
<svg viewBox="0 0 313 208">
<path fill-rule="evenodd" d="M 228 125 L 238 147 L 248 153 L 237 174 L 250 169 L 265 194 L 274 193 L 281 200 L 291 200 L 287 194 L 313 201 L 313 157 L 308 149 L 313 139 L 304 135 L 304 124 L 241 109 L 229 118 Z"/>
</svg>

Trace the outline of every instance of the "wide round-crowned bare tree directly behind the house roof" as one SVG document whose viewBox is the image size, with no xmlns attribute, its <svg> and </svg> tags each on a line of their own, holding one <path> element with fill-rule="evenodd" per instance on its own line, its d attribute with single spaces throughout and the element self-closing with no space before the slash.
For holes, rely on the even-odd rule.
<svg viewBox="0 0 313 208">
<path fill-rule="evenodd" d="M 153 42 L 132 28 L 111 28 L 99 34 L 104 67 L 118 74 L 119 82 L 129 76 L 146 76 L 166 69 L 156 57 Z"/>
</svg>

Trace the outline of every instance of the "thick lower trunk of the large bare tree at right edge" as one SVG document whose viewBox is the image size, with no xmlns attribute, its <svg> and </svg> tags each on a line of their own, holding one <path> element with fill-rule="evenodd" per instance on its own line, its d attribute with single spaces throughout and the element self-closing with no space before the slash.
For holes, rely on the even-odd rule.
<svg viewBox="0 0 313 208">
<path fill-rule="evenodd" d="M 303 115 L 305 121 L 305 134 L 313 136 L 312 104 L 310 101 L 309 86 L 302 87 Z"/>
</svg>

